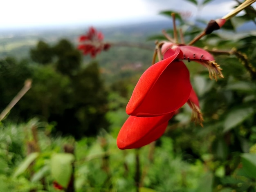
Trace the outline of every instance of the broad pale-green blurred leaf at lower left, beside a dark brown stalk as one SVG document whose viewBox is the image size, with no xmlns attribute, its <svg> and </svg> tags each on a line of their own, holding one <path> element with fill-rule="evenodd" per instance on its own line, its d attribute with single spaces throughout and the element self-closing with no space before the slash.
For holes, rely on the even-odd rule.
<svg viewBox="0 0 256 192">
<path fill-rule="evenodd" d="M 72 162 L 74 155 L 68 153 L 53 154 L 50 161 L 50 169 L 53 179 L 63 186 L 67 187 L 72 174 Z"/>
</svg>

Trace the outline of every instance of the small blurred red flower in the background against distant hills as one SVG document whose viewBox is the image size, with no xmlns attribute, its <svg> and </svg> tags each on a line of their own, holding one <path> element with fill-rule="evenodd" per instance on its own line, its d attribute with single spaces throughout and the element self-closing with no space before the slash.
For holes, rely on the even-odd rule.
<svg viewBox="0 0 256 192">
<path fill-rule="evenodd" d="M 83 55 L 90 54 L 91 57 L 95 57 L 101 50 L 106 51 L 110 48 L 110 44 L 104 43 L 103 39 L 103 33 L 98 32 L 94 27 L 90 27 L 85 35 L 79 37 L 80 45 L 78 49 L 83 52 Z"/>
</svg>

